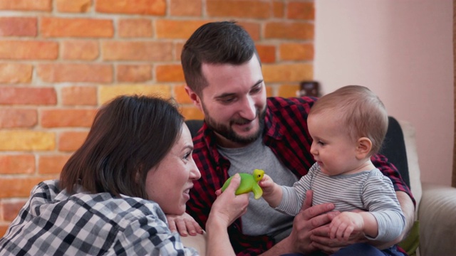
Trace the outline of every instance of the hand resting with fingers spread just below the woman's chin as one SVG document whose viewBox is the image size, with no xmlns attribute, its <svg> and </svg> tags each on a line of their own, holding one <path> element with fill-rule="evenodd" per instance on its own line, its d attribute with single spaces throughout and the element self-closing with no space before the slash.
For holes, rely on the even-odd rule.
<svg viewBox="0 0 456 256">
<path fill-rule="evenodd" d="M 203 233 L 201 226 L 199 226 L 197 221 L 187 213 L 184 213 L 182 215 L 167 214 L 166 219 L 168 220 L 168 227 L 170 228 L 171 232 L 179 231 L 179 234 L 182 236 L 187 236 L 188 234 L 197 235 L 197 233 Z"/>
</svg>

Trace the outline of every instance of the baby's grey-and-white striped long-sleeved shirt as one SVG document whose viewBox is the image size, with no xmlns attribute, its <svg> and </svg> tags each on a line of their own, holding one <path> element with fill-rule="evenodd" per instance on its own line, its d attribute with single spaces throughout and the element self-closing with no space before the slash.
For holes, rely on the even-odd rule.
<svg viewBox="0 0 456 256">
<path fill-rule="evenodd" d="M 328 176 L 314 164 L 309 173 L 292 187 L 282 186 L 282 201 L 277 210 L 296 215 L 306 199 L 306 191 L 314 191 L 312 205 L 334 203 L 338 211 L 366 210 L 378 223 L 378 235 L 372 240 L 388 242 L 397 238 L 405 227 L 405 216 L 390 179 L 378 169 L 358 174 Z"/>
</svg>

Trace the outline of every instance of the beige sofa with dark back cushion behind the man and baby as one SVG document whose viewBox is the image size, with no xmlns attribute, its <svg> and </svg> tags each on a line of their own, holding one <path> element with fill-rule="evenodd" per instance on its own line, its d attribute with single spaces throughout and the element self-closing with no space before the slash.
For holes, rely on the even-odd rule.
<svg viewBox="0 0 456 256">
<path fill-rule="evenodd" d="M 194 137 L 202 120 L 187 120 L 186 124 Z M 456 255 L 456 188 L 421 181 L 413 125 L 389 117 L 380 153 L 398 168 L 416 200 L 414 227 L 401 247 L 409 255 Z M 182 241 L 204 255 L 205 239 L 204 235 L 197 235 Z"/>
</svg>

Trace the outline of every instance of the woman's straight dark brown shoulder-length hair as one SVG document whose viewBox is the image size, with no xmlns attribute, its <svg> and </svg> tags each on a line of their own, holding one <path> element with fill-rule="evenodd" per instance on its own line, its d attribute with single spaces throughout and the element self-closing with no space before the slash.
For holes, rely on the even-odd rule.
<svg viewBox="0 0 456 256">
<path fill-rule="evenodd" d="M 147 199 L 147 172 L 168 154 L 183 122 L 171 100 L 116 97 L 100 107 L 86 141 L 63 166 L 60 187 Z"/>
</svg>

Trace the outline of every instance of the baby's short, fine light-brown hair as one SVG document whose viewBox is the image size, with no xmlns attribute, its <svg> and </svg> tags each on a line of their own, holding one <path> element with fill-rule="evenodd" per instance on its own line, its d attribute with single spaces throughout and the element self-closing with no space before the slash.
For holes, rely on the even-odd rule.
<svg viewBox="0 0 456 256">
<path fill-rule="evenodd" d="M 315 102 L 309 115 L 323 111 L 337 113 L 341 129 L 346 129 L 351 139 L 371 139 L 370 155 L 380 150 L 388 129 L 388 114 L 380 98 L 367 87 L 348 85 L 324 95 Z"/>
</svg>

